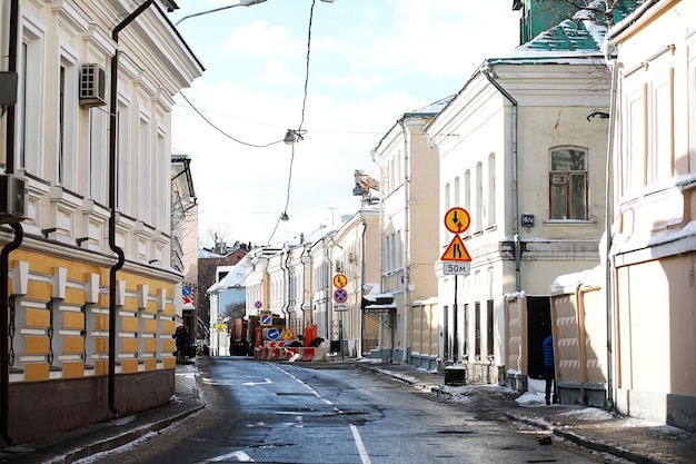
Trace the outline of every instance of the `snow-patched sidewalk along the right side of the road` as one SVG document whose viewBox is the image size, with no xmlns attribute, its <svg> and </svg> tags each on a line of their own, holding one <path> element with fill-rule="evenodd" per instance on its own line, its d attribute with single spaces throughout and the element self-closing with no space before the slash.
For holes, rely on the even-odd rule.
<svg viewBox="0 0 696 464">
<path fill-rule="evenodd" d="M 523 426 L 548 433 L 553 440 L 577 445 L 625 460 L 646 464 L 686 464 L 696 462 L 696 433 L 682 428 L 624 417 L 615 413 L 577 405 L 546 406 L 543 386 L 520 395 L 496 385 L 445 386 L 445 375 L 394 363 L 356 362 L 359 369 L 371 371 L 425 388 L 447 401 L 483 404 Z M 535 389 L 531 381 L 530 389 Z"/>
</svg>

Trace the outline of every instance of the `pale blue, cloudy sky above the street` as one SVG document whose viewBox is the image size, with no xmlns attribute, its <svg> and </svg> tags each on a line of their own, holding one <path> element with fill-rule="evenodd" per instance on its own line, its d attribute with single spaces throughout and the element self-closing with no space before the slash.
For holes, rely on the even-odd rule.
<svg viewBox="0 0 696 464">
<path fill-rule="evenodd" d="M 370 150 L 397 119 L 518 46 L 511 0 L 266 0 L 182 19 L 237 3 L 177 0 L 169 16 L 206 69 L 172 116 L 172 152 L 192 159 L 199 247 L 340 225 L 360 208 L 355 170 L 379 178 Z M 284 144 L 288 129 L 301 140 Z"/>
</svg>

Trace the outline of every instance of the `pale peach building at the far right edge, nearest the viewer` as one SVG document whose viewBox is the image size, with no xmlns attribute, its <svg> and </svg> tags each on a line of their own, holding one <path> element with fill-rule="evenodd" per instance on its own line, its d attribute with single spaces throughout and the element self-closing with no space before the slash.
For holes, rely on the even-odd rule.
<svg viewBox="0 0 696 464">
<path fill-rule="evenodd" d="M 696 1 L 646 1 L 617 46 L 616 407 L 696 430 Z"/>
</svg>

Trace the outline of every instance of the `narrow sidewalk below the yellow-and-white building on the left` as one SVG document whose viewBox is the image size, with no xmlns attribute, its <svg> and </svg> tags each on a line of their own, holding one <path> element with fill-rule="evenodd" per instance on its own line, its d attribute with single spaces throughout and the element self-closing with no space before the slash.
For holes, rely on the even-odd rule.
<svg viewBox="0 0 696 464">
<path fill-rule="evenodd" d="M 205 407 L 199 399 L 195 364 L 178 364 L 176 393 L 169 404 L 0 450 L 0 463 L 68 464 L 156 433 Z"/>
</svg>

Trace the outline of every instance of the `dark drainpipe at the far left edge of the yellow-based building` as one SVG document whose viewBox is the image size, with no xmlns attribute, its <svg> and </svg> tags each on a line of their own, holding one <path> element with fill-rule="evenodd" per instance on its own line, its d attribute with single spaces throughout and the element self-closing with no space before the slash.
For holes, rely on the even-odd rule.
<svg viewBox="0 0 696 464">
<path fill-rule="evenodd" d="M 17 34 L 19 31 L 19 0 L 10 3 L 10 41 L 8 71 L 17 72 Z M 9 105 L 7 109 L 7 174 L 14 172 L 14 118 L 16 106 Z M 8 274 L 10 269 L 10 253 L 19 248 L 24 237 L 22 225 L 12 223 L 10 227 L 14 229 L 12 241 L 2 247 L 0 251 L 0 436 L 8 445 L 12 444 L 9 434 L 9 405 L 10 405 L 10 334 L 9 334 L 9 285 Z"/>
</svg>

